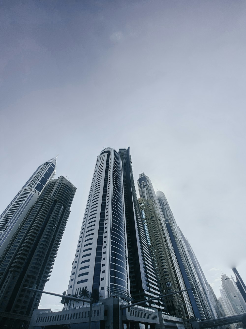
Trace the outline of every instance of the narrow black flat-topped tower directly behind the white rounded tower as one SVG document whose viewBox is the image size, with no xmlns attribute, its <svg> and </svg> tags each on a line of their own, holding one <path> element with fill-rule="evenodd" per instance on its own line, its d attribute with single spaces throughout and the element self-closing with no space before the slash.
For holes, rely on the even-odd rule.
<svg viewBox="0 0 246 329">
<path fill-rule="evenodd" d="M 130 148 L 119 149 L 119 155 L 123 170 L 130 290 L 134 302 L 138 302 L 160 296 L 160 288 L 137 202 Z M 159 300 L 145 304 L 148 305 L 163 308 Z"/>
</svg>

